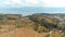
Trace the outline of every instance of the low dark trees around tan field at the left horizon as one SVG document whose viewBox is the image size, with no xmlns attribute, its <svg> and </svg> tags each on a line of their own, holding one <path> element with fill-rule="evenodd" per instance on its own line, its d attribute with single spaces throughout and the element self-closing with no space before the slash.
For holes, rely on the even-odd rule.
<svg viewBox="0 0 65 37">
<path fill-rule="evenodd" d="M 21 18 L 22 14 L 0 14 L 0 20 L 17 20 Z"/>
</svg>

